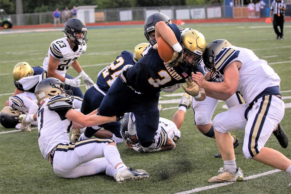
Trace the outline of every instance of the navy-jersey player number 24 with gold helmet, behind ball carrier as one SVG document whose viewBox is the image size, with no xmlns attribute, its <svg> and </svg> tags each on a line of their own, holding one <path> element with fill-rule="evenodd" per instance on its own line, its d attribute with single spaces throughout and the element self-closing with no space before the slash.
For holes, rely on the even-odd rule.
<svg viewBox="0 0 291 194">
<path fill-rule="evenodd" d="M 122 51 L 121 55 L 117 56 L 115 61 L 98 73 L 97 82 L 85 92 L 81 108 L 83 114 L 89 114 L 100 106 L 103 97 L 120 74 L 122 68 L 128 64 L 134 65 L 142 57 L 142 52 L 148 45 L 149 43 L 138 44 L 135 46 L 133 54 L 128 51 Z M 81 139 L 91 138 L 95 134 L 98 138 L 113 138 L 116 143 L 122 143 L 120 125 L 121 122 L 117 121 L 100 126 L 88 127 L 85 133 L 82 134 Z M 98 131 L 101 127 L 105 130 Z M 80 136 L 79 129 L 75 129 L 73 134 L 72 141 L 74 142 Z"/>
</svg>

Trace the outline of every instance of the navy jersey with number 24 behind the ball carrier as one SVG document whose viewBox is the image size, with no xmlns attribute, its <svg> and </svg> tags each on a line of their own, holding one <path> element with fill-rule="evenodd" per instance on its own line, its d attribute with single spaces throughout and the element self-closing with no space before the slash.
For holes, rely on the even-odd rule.
<svg viewBox="0 0 291 194">
<path fill-rule="evenodd" d="M 135 62 L 132 59 L 133 54 L 128 51 L 122 51 L 121 55 L 116 57 L 116 60 L 112 62 L 109 66 L 104 68 L 100 72 L 97 78 L 97 86 L 104 93 L 107 93 L 109 87 L 116 80 L 117 76 L 121 73 L 123 66 L 125 65 L 134 65 Z"/>
</svg>

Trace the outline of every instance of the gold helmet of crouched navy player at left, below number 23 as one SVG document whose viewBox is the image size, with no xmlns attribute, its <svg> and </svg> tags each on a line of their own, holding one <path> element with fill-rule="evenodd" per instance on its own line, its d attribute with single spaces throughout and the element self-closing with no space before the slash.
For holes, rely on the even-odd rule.
<svg viewBox="0 0 291 194">
<path fill-rule="evenodd" d="M 12 72 L 14 81 L 18 81 L 23 77 L 33 76 L 33 69 L 27 62 L 17 63 Z"/>
</svg>

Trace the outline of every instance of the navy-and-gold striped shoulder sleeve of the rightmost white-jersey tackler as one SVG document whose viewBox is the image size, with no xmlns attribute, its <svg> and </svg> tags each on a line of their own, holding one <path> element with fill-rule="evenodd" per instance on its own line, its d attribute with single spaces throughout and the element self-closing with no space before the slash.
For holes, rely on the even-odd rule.
<svg viewBox="0 0 291 194">
<path fill-rule="evenodd" d="M 229 47 L 222 49 L 215 57 L 215 69 L 223 75 L 225 68 L 236 60 L 239 56 L 239 52 L 239 50 Z"/>
</svg>

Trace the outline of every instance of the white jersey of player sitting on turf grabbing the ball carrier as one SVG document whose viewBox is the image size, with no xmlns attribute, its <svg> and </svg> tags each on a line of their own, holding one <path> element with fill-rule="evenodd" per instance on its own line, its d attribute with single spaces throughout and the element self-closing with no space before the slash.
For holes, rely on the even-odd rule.
<svg viewBox="0 0 291 194">
<path fill-rule="evenodd" d="M 72 129 L 72 121 L 59 115 L 56 111 L 49 110 L 48 104 L 57 101 L 72 103 L 72 100 L 65 96 L 53 96 L 42 105 L 37 113 L 38 145 L 46 160 L 49 158 L 49 152 L 52 151 L 56 145 L 60 143 L 70 143 L 69 132 Z"/>
</svg>

